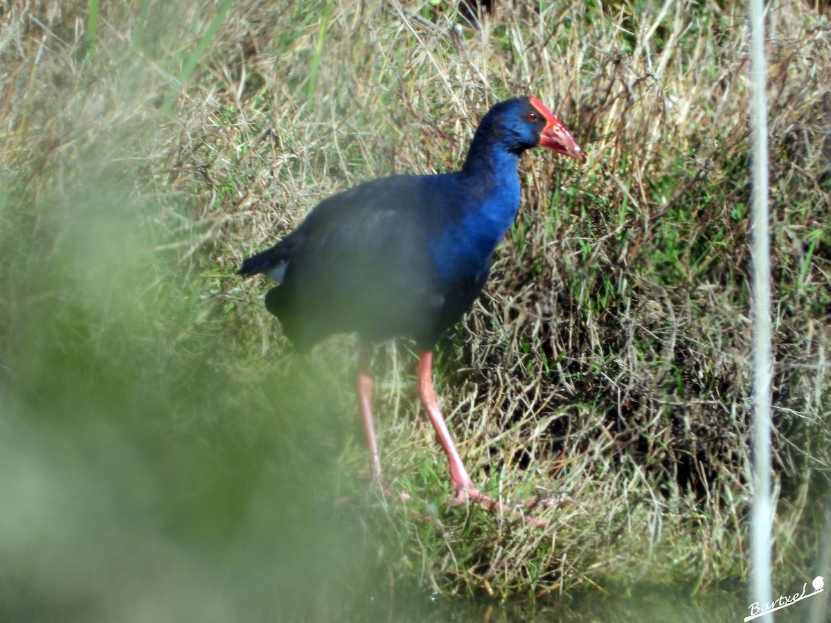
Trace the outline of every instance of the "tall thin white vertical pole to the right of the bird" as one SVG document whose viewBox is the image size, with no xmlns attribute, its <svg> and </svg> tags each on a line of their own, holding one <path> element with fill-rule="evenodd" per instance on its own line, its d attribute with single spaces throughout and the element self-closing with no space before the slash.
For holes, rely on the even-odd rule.
<svg viewBox="0 0 831 623">
<path fill-rule="evenodd" d="M 752 599 L 770 603 L 770 226 L 765 7 L 750 0 L 750 123 L 753 182 L 753 533 Z M 760 621 L 773 621 L 773 615 Z"/>
</svg>

